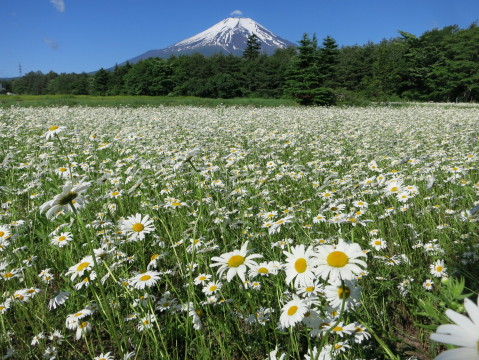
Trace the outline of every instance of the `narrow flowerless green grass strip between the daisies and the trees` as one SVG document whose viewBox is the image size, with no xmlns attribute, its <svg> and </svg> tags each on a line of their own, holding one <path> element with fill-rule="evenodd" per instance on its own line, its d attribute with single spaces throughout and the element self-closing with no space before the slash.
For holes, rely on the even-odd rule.
<svg viewBox="0 0 479 360">
<path fill-rule="evenodd" d="M 0 95 L 0 107 L 42 107 L 42 106 L 296 106 L 288 99 L 207 99 L 196 97 L 170 96 L 88 96 L 88 95 Z"/>
</svg>

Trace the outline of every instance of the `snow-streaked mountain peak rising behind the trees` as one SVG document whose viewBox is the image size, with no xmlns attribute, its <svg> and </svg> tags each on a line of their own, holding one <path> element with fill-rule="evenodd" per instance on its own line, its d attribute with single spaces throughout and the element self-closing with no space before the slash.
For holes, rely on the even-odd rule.
<svg viewBox="0 0 479 360">
<path fill-rule="evenodd" d="M 277 48 L 296 46 L 266 29 L 250 18 L 226 18 L 209 29 L 160 50 L 150 50 L 133 59 L 130 63 L 150 57 L 168 58 L 172 55 L 200 53 L 205 56 L 215 53 L 241 55 L 246 48 L 248 37 L 255 34 L 261 43 L 261 52 L 272 54 Z"/>
</svg>

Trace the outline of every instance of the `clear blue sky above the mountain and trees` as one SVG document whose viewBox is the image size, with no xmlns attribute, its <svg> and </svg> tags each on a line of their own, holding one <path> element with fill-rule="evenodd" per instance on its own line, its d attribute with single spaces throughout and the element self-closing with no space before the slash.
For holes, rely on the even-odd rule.
<svg viewBox="0 0 479 360">
<path fill-rule="evenodd" d="M 297 42 L 303 33 L 341 45 L 398 30 L 479 20 L 479 0 L 0 0 L 0 78 L 30 71 L 91 72 L 193 36 L 241 12 Z"/>
</svg>

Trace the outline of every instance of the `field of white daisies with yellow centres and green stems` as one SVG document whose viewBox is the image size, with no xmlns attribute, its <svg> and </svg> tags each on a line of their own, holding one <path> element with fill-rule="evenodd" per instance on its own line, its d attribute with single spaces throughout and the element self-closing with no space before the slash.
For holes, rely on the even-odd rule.
<svg viewBox="0 0 479 360">
<path fill-rule="evenodd" d="M 478 164 L 474 106 L 0 109 L 0 358 L 479 359 Z"/>
</svg>

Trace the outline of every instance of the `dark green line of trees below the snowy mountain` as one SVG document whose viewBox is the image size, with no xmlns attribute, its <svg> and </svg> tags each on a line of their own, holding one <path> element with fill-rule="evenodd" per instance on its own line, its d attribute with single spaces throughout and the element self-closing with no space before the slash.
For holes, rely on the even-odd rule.
<svg viewBox="0 0 479 360">
<path fill-rule="evenodd" d="M 479 27 L 457 25 L 417 37 L 344 46 L 304 34 L 297 48 L 260 53 L 248 39 L 243 56 L 150 58 L 94 74 L 29 72 L 6 84 L 17 94 L 170 95 L 209 98 L 292 97 L 302 104 L 338 100 L 478 101 Z M 5 86 L 5 84 L 4 84 Z"/>
</svg>

